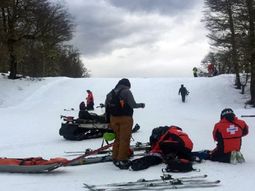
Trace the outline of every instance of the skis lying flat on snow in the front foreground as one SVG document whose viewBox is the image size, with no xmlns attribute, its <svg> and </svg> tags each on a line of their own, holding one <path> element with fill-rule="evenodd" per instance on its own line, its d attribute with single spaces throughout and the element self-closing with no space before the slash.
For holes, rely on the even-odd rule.
<svg viewBox="0 0 255 191">
<path fill-rule="evenodd" d="M 89 191 L 117 191 L 117 190 L 168 190 L 184 188 L 206 188 L 220 185 L 220 180 L 211 181 L 207 175 L 184 176 L 173 178 L 172 175 L 164 173 L 159 179 L 139 179 L 134 182 L 112 183 L 105 185 L 83 184 Z"/>
</svg>

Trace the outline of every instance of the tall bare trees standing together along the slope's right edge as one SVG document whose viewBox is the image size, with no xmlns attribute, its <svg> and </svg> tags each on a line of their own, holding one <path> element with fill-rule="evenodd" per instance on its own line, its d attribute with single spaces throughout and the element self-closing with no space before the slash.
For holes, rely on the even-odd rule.
<svg viewBox="0 0 255 191">
<path fill-rule="evenodd" d="M 249 104 L 255 106 L 255 2 L 254 0 L 204 0 L 203 22 L 209 30 L 212 61 L 219 73 L 250 74 Z"/>
</svg>

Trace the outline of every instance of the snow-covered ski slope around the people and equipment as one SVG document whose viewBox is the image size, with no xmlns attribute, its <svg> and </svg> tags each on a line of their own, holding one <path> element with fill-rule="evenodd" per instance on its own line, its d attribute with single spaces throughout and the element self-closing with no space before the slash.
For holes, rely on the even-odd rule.
<svg viewBox="0 0 255 191">
<path fill-rule="evenodd" d="M 86 90 L 94 93 L 95 104 L 105 100 L 105 95 L 116 85 L 114 78 L 45 78 L 43 80 L 7 80 L 0 77 L 0 157 L 36 157 L 49 159 L 66 157 L 65 151 L 98 148 L 102 139 L 73 142 L 64 140 L 58 131 L 60 115 L 74 115 Z M 131 78 L 131 90 L 137 102 L 145 102 L 144 109 L 134 113 L 135 123 L 141 126 L 133 135 L 137 141 L 147 142 L 154 127 L 177 125 L 187 132 L 194 142 L 194 150 L 213 149 L 212 129 L 220 112 L 231 107 L 237 116 L 255 114 L 255 109 L 244 109 L 247 95 L 233 88 L 234 76 L 213 78 Z M 184 84 L 190 91 L 187 103 L 182 103 L 178 89 Z M 102 109 L 95 112 L 103 113 Z M 201 172 L 185 175 L 208 174 L 208 179 L 220 179 L 221 186 L 203 190 L 251 190 L 255 176 L 255 118 L 243 118 L 250 133 L 243 138 L 244 164 L 223 164 L 205 161 L 195 164 Z M 72 157 L 67 157 L 71 159 Z M 119 170 L 112 163 L 62 167 L 47 174 L 0 173 L 0 190 L 8 191 L 82 191 L 83 183 L 104 184 L 135 181 L 140 178 L 159 178 L 158 165 L 143 171 Z M 175 177 L 183 174 L 174 174 Z M 194 189 L 202 190 L 202 189 Z"/>
</svg>

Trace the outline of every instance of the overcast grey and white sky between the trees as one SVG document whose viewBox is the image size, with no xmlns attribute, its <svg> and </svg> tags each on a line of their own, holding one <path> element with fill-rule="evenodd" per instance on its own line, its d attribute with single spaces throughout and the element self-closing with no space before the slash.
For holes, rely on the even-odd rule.
<svg viewBox="0 0 255 191">
<path fill-rule="evenodd" d="M 65 0 L 92 77 L 189 77 L 209 51 L 203 0 Z"/>
</svg>

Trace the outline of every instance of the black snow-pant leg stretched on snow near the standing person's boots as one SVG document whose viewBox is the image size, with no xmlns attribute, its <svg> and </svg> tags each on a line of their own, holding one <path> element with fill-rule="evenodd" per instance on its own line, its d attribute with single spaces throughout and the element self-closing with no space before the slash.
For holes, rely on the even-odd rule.
<svg viewBox="0 0 255 191">
<path fill-rule="evenodd" d="M 162 163 L 162 158 L 157 155 L 146 155 L 131 161 L 131 169 L 134 171 L 144 170 L 150 166 Z"/>
</svg>

